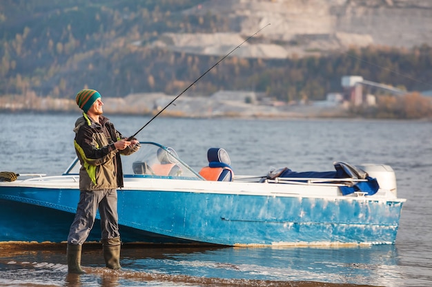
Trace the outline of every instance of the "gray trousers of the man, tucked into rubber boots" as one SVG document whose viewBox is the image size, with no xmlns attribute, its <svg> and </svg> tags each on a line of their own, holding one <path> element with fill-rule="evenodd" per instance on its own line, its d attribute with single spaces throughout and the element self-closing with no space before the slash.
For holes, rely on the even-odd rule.
<svg viewBox="0 0 432 287">
<path fill-rule="evenodd" d="M 120 236 L 117 190 L 80 191 L 77 213 L 70 225 L 68 244 L 75 245 L 86 242 L 95 223 L 97 209 L 101 215 L 101 239 L 107 240 Z"/>
</svg>

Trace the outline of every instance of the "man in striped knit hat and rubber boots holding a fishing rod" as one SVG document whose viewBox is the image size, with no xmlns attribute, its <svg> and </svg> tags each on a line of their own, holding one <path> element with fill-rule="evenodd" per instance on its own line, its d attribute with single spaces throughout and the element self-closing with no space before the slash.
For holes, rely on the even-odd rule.
<svg viewBox="0 0 432 287">
<path fill-rule="evenodd" d="M 123 187 L 120 155 L 140 147 L 138 140 L 122 136 L 110 120 L 102 116 L 101 95 L 83 89 L 76 96 L 84 111 L 75 123 L 75 151 L 79 169 L 79 202 L 68 235 L 68 272 L 85 273 L 81 268 L 82 244 L 86 241 L 97 209 L 101 216 L 101 242 L 106 266 L 119 269 L 120 234 L 117 213 L 117 188 Z"/>
</svg>

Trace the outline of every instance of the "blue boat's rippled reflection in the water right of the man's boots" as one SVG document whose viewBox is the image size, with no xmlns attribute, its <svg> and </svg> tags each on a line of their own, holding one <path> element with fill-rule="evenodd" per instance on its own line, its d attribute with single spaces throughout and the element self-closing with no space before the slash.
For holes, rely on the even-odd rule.
<svg viewBox="0 0 432 287">
<path fill-rule="evenodd" d="M 143 250 L 144 252 L 148 252 Z M 136 250 L 135 250 L 136 252 Z M 124 253 L 124 266 L 154 273 L 257 280 L 326 281 L 397 286 L 393 245 L 352 248 L 219 248 Z"/>
</svg>

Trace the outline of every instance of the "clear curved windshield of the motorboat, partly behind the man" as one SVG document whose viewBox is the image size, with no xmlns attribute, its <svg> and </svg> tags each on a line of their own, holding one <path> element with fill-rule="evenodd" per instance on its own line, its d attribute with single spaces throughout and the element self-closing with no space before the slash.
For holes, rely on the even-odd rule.
<svg viewBox="0 0 432 287">
<path fill-rule="evenodd" d="M 141 147 L 130 156 L 121 156 L 121 165 L 125 178 L 164 177 L 202 180 L 202 177 L 183 162 L 170 147 L 155 142 L 140 142 Z M 70 164 L 63 174 L 79 174 L 79 160 Z"/>
</svg>

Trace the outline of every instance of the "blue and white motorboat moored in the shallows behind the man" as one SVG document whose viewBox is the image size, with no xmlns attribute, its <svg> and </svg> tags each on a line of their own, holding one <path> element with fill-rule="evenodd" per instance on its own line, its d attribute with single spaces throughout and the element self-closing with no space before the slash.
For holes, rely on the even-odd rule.
<svg viewBox="0 0 432 287">
<path fill-rule="evenodd" d="M 395 243 L 406 200 L 397 198 L 395 173 L 386 164 L 337 162 L 336 171 L 325 174 L 284 168 L 208 180 L 173 148 L 140 144 L 122 157 L 124 187 L 117 195 L 125 244 Z M 75 158 L 59 176 L 3 178 L 0 242 L 65 242 L 79 200 L 80 167 Z M 88 242 L 99 240 L 96 222 Z"/>
</svg>

